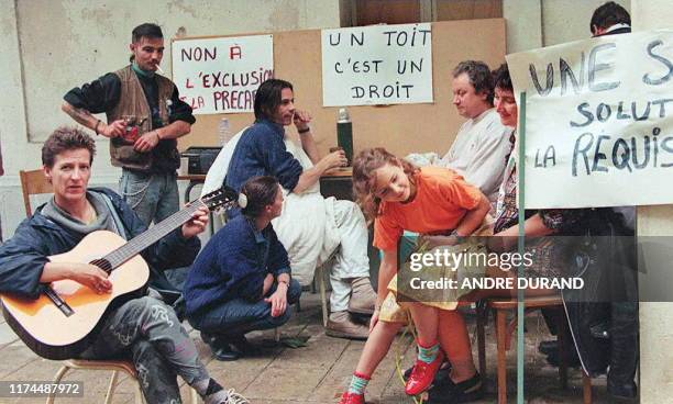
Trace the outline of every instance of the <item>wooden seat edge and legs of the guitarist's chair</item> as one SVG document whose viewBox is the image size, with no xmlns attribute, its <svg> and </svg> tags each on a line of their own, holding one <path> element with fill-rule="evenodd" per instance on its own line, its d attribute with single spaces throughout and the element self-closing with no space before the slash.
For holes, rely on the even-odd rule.
<svg viewBox="0 0 673 404">
<path fill-rule="evenodd" d="M 143 393 L 140 388 L 140 381 L 137 381 L 137 373 L 135 372 L 135 367 L 130 361 L 125 360 L 82 360 L 82 359 L 70 359 L 65 360 L 63 362 L 63 367 L 56 373 L 54 378 L 54 383 L 59 383 L 63 377 L 71 370 L 71 369 L 82 369 L 82 370 L 111 370 L 112 377 L 110 378 L 110 384 L 108 385 L 108 392 L 106 393 L 104 404 L 112 403 L 112 396 L 114 395 L 114 390 L 117 389 L 118 378 L 120 372 L 126 373 L 135 383 L 135 403 L 143 404 Z M 199 395 L 196 390 L 190 389 L 190 400 L 192 404 L 197 404 L 199 402 Z M 47 397 L 46 404 L 54 403 L 54 395 L 49 395 Z"/>
</svg>

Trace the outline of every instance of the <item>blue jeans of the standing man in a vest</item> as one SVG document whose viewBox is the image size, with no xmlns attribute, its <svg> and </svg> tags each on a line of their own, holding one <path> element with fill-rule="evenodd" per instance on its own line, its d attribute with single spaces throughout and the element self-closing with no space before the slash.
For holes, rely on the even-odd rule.
<svg viewBox="0 0 673 404">
<path fill-rule="evenodd" d="M 119 193 L 147 227 L 179 210 L 175 172 L 139 172 L 122 169 Z"/>
</svg>

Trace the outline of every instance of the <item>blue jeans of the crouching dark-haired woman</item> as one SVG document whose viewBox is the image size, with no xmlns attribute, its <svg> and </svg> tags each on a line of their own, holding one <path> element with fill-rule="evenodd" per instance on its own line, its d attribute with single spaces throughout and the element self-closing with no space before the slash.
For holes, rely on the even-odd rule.
<svg viewBox="0 0 673 404">
<path fill-rule="evenodd" d="M 276 283 L 266 296 L 276 291 Z M 290 305 L 299 301 L 301 285 L 290 280 L 287 290 L 287 308 L 277 317 L 271 315 L 271 303 L 264 300 L 250 302 L 234 299 L 212 307 L 208 313 L 189 317 L 189 324 L 196 329 L 223 337 L 238 337 L 255 329 L 269 329 L 282 326 L 290 319 Z"/>
</svg>

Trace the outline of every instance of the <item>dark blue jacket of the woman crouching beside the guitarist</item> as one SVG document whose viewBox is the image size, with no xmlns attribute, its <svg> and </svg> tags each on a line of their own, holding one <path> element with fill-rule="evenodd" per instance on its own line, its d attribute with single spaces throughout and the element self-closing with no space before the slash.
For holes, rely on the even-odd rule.
<svg viewBox="0 0 673 404">
<path fill-rule="evenodd" d="M 258 232 L 238 215 L 208 242 L 185 282 L 187 316 L 202 314 L 233 299 L 262 299 L 264 278 L 290 273 L 287 251 L 269 224 Z"/>
</svg>

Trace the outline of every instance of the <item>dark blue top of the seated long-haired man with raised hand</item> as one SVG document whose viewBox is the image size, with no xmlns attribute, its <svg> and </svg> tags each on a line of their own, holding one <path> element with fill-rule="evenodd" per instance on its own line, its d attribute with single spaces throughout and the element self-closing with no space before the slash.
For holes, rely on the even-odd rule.
<svg viewBox="0 0 673 404">
<path fill-rule="evenodd" d="M 255 176 L 274 176 L 288 191 L 299 182 L 304 168 L 285 147 L 282 125 L 260 120 L 249 127 L 236 144 L 224 184 L 241 191 L 243 183 Z"/>
</svg>

